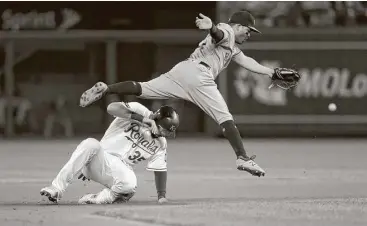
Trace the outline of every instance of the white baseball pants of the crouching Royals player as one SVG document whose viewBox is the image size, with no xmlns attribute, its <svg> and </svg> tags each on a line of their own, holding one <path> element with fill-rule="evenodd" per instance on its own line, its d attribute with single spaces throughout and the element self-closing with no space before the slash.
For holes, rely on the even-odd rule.
<svg viewBox="0 0 367 226">
<path fill-rule="evenodd" d="M 119 195 L 134 193 L 136 190 L 137 179 L 134 171 L 118 157 L 104 151 L 100 142 L 93 138 L 88 138 L 78 145 L 69 161 L 52 181 L 52 185 L 64 192 L 81 173 L 107 187 L 98 195 L 109 203 Z"/>
</svg>

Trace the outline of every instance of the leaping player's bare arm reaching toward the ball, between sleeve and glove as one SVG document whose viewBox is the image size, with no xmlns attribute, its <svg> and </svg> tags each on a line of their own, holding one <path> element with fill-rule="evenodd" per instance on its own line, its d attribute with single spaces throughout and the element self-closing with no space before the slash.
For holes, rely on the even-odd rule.
<svg viewBox="0 0 367 226">
<path fill-rule="evenodd" d="M 238 53 L 236 56 L 233 57 L 233 61 L 235 61 L 240 66 L 246 68 L 249 71 L 268 75 L 270 78 L 274 74 L 274 69 L 265 67 L 261 64 L 259 64 L 256 60 L 254 60 L 251 57 L 245 56 L 243 52 Z"/>
</svg>

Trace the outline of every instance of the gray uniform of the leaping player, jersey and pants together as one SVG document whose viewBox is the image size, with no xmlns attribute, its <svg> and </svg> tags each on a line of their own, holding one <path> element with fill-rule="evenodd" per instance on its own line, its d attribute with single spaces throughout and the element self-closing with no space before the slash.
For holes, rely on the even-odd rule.
<svg viewBox="0 0 367 226">
<path fill-rule="evenodd" d="M 141 82 L 139 97 L 184 99 L 195 103 L 218 124 L 233 120 L 214 80 L 241 50 L 235 44 L 231 26 L 220 23 L 217 27 L 224 32 L 220 42 L 215 43 L 208 34 L 187 60 L 155 79 Z"/>
</svg>

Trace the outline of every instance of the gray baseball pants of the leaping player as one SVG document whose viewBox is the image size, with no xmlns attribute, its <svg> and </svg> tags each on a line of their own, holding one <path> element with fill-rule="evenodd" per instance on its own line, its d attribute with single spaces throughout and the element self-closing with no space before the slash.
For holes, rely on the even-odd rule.
<svg viewBox="0 0 367 226">
<path fill-rule="evenodd" d="M 141 82 L 144 99 L 184 99 L 200 107 L 218 124 L 233 120 L 228 106 L 219 92 L 214 76 L 200 61 L 186 60 L 169 72 Z"/>
</svg>

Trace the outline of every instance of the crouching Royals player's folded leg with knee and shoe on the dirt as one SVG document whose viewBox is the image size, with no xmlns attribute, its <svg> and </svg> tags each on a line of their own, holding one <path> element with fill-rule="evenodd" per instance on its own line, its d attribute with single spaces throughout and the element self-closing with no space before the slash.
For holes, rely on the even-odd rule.
<svg viewBox="0 0 367 226">
<path fill-rule="evenodd" d="M 127 202 L 136 191 L 137 179 L 133 170 L 118 157 L 105 153 L 106 168 L 101 171 L 94 161 L 86 168 L 87 177 L 106 186 L 97 194 L 86 194 L 79 204 L 111 204 Z M 98 162 L 96 163 L 98 164 Z M 83 171 L 84 173 L 84 171 Z"/>
</svg>

